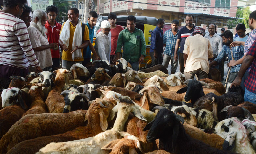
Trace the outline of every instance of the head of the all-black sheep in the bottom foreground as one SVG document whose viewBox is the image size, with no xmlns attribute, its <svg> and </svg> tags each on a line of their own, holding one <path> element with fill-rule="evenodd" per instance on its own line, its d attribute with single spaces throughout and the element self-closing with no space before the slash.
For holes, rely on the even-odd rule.
<svg viewBox="0 0 256 154">
<path fill-rule="evenodd" d="M 155 118 L 148 123 L 144 131 L 149 130 L 147 134 L 147 140 L 149 142 L 154 142 L 156 139 L 168 140 L 169 136 L 166 136 L 164 132 L 172 132 L 172 147 L 175 147 L 176 139 L 179 134 L 180 122 L 184 123 L 184 119 L 172 111 L 163 108 L 160 109 Z"/>
</svg>

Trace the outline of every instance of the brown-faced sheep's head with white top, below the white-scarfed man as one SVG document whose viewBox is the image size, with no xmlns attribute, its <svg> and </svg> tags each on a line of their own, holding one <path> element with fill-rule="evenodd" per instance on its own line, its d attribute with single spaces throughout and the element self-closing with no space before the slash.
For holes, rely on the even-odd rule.
<svg viewBox="0 0 256 154">
<path fill-rule="evenodd" d="M 86 76 L 86 77 L 90 76 L 88 69 L 80 63 L 73 64 L 69 69 L 69 71 L 72 72 L 73 79 L 79 79 L 80 76 Z"/>
</svg>

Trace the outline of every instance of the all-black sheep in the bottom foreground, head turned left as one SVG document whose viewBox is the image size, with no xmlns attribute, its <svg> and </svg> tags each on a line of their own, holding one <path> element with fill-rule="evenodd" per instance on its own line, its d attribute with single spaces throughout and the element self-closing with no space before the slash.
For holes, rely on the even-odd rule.
<svg viewBox="0 0 256 154">
<path fill-rule="evenodd" d="M 164 150 L 170 153 L 227 153 L 189 137 L 180 122 L 184 123 L 181 116 L 160 109 L 155 119 L 144 128 L 144 131 L 149 130 L 147 140 L 153 142 L 159 138 Z"/>
</svg>

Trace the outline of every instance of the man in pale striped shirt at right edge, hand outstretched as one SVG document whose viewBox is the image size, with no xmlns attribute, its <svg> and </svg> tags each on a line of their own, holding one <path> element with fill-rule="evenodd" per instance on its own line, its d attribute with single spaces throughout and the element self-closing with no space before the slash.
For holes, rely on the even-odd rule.
<svg viewBox="0 0 256 154">
<path fill-rule="evenodd" d="M 243 46 L 245 46 L 245 50 L 244 50 L 244 56 L 239 60 L 231 60 L 229 63 L 229 67 L 241 64 L 243 62 L 243 60 L 246 57 L 247 52 L 249 51 L 249 48 L 251 48 L 253 42 L 256 39 L 256 11 L 251 12 L 251 14 L 249 16 L 249 27 L 252 31 L 250 32 L 249 37 L 247 38 L 246 42 L 234 41 L 233 43 L 231 43 L 232 46 L 243 45 Z M 243 89 L 245 89 L 244 82 L 245 82 L 245 79 L 249 76 L 249 72 L 250 72 L 251 68 L 252 68 L 252 65 L 250 65 L 250 67 L 248 67 L 248 69 L 246 70 L 246 72 L 242 78 L 241 87 Z"/>
</svg>

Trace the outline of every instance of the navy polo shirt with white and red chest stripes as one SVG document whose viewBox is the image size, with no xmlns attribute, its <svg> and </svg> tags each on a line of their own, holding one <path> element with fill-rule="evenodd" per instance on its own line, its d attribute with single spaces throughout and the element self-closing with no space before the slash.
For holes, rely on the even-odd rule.
<svg viewBox="0 0 256 154">
<path fill-rule="evenodd" d="M 186 25 L 186 26 L 182 27 L 182 28 L 179 30 L 178 36 L 177 36 L 177 39 L 181 39 L 181 42 L 180 42 L 181 48 L 180 48 L 179 53 L 183 53 L 184 44 L 185 44 L 186 38 L 187 38 L 188 36 L 190 36 L 191 33 L 194 32 L 195 27 L 196 27 L 196 26 L 193 25 L 193 28 L 189 30 L 189 29 L 187 29 L 187 25 Z"/>
</svg>

